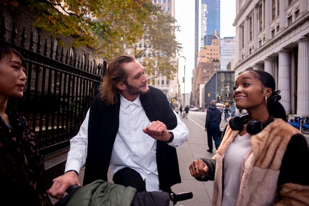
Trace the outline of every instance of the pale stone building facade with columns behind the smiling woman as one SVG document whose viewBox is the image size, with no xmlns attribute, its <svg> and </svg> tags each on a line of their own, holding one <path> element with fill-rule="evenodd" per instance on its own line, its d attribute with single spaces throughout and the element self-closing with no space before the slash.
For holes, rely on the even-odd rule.
<svg viewBox="0 0 309 206">
<path fill-rule="evenodd" d="M 236 0 L 233 26 L 235 78 L 269 72 L 287 115 L 309 116 L 309 0 Z"/>
</svg>

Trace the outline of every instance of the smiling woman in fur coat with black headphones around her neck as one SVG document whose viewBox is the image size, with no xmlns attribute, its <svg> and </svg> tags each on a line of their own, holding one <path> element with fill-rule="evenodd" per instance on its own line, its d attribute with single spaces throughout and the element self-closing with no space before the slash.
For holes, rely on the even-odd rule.
<svg viewBox="0 0 309 206">
<path fill-rule="evenodd" d="M 264 71 L 241 73 L 233 98 L 248 114 L 233 117 L 212 159 L 194 160 L 197 180 L 214 180 L 213 206 L 308 206 L 309 148 L 286 123 L 275 82 Z"/>
</svg>

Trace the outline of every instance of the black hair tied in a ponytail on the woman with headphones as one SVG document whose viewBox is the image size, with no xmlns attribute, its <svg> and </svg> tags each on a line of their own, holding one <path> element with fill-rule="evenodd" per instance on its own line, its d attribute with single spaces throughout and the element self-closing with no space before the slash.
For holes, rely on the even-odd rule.
<svg viewBox="0 0 309 206">
<path fill-rule="evenodd" d="M 267 102 L 267 110 L 270 114 L 270 116 L 274 118 L 280 118 L 287 122 L 287 117 L 285 113 L 285 109 L 283 108 L 282 104 L 279 102 L 281 99 L 281 96 L 279 95 L 280 91 L 275 90 L 276 83 L 273 79 L 273 77 L 261 70 L 249 70 L 250 73 L 256 73 L 256 78 L 260 80 L 263 84 L 263 86 L 271 88 L 272 92 Z"/>
</svg>

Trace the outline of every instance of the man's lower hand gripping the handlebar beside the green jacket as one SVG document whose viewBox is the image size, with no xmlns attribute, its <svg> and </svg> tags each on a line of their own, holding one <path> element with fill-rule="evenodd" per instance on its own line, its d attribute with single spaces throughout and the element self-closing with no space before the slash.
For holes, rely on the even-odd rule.
<svg viewBox="0 0 309 206">
<path fill-rule="evenodd" d="M 68 171 L 63 175 L 53 179 L 53 184 L 51 188 L 49 188 L 48 193 L 51 197 L 60 200 L 66 190 L 75 184 L 80 186 L 77 173 L 75 171 Z"/>
</svg>

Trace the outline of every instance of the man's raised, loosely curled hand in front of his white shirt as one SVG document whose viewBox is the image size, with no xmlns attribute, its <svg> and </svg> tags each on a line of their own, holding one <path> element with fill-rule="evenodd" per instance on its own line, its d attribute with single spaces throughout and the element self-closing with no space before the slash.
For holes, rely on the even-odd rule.
<svg viewBox="0 0 309 206">
<path fill-rule="evenodd" d="M 149 123 L 146 128 L 143 128 L 143 131 L 152 138 L 160 141 L 166 142 L 170 138 L 166 125 L 160 121 Z"/>
</svg>

